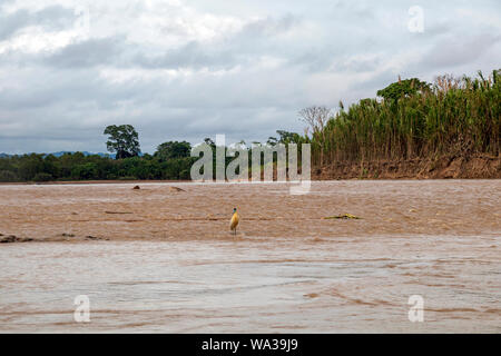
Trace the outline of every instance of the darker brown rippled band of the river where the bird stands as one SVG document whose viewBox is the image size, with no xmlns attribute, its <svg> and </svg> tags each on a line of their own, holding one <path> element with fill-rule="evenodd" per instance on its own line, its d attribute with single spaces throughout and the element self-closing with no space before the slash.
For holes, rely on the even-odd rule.
<svg viewBox="0 0 501 356">
<path fill-rule="evenodd" d="M 304 196 L 285 184 L 135 185 L 1 186 L 0 238 L 234 239 L 234 207 L 236 238 L 501 233 L 500 180 L 317 181 Z M 342 214 L 361 219 L 326 219 Z"/>
</svg>

